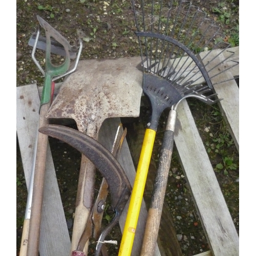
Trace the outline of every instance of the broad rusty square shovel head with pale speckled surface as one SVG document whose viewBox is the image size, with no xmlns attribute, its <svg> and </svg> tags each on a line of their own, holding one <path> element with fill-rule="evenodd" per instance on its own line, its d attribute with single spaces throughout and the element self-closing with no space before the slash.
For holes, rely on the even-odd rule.
<svg viewBox="0 0 256 256">
<path fill-rule="evenodd" d="M 109 117 L 137 117 L 142 94 L 139 58 L 83 60 L 63 82 L 47 118 L 72 118 L 94 137 Z"/>
</svg>

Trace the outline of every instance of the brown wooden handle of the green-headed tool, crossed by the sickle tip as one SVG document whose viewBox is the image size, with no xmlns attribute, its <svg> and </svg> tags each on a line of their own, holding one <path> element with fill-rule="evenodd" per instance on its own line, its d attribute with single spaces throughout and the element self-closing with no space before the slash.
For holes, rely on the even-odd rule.
<svg viewBox="0 0 256 256">
<path fill-rule="evenodd" d="M 39 127 L 45 126 L 48 121 L 45 118 L 50 108 L 50 102 L 43 104 L 40 109 Z M 46 155 L 48 136 L 38 133 L 37 151 L 35 162 L 35 174 L 33 185 L 33 199 L 31 207 L 31 218 L 29 225 L 28 256 L 37 256 L 39 250 L 39 234 L 42 209 L 42 197 L 44 192 Z"/>
</svg>

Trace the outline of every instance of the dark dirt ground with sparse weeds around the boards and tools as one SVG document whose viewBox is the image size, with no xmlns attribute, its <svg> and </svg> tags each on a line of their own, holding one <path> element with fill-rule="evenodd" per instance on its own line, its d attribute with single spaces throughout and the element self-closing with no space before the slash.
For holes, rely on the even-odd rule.
<svg viewBox="0 0 256 256">
<path fill-rule="evenodd" d="M 225 5 L 223 5 L 225 3 Z M 235 26 L 239 26 L 239 1 L 193 1 L 195 6 L 200 7 L 205 11 L 210 18 L 216 20 L 216 23 L 221 27 L 221 30 L 226 34 L 227 38 L 236 41 Z M 40 72 L 34 65 L 31 58 L 32 48 L 28 46 L 28 41 L 31 34 L 35 31 L 38 24 L 36 15 L 41 16 L 47 22 L 65 36 L 71 45 L 74 44 L 78 37 L 83 38 L 83 50 L 80 59 L 105 59 L 105 58 L 120 58 L 129 56 L 139 56 L 139 47 L 134 35 L 135 23 L 133 17 L 133 10 L 130 1 L 97 1 L 97 0 L 61 0 L 61 1 L 24 1 L 17 0 L 17 72 L 16 81 L 17 86 L 23 86 L 36 82 L 42 85 L 44 81 Z M 214 9 L 217 8 L 217 9 Z M 229 13 L 229 14 L 227 14 Z M 235 39 L 233 39 L 235 38 Z M 239 41 L 239 39 L 238 39 Z M 234 46 L 238 45 L 236 41 Z M 37 58 L 40 63 L 44 62 L 44 54 L 37 53 Z M 208 151 L 212 165 L 216 170 L 216 176 L 220 183 L 223 195 L 230 210 L 231 217 L 239 232 L 239 154 L 234 146 L 231 136 L 227 130 L 222 116 L 219 114 L 218 107 L 212 109 L 200 103 L 190 102 L 194 107 L 192 112 L 196 116 L 196 123 L 201 131 L 201 136 L 204 139 L 206 148 L 208 144 L 215 143 L 221 147 L 219 153 L 213 153 L 210 149 Z M 141 113 L 148 115 L 150 109 L 145 106 Z M 207 113 L 211 113 L 208 115 Z M 130 129 L 131 134 L 134 136 L 127 136 L 130 145 L 134 143 L 134 138 L 143 133 L 141 130 L 136 132 L 134 127 L 138 126 L 139 122 L 145 122 L 146 114 L 144 117 L 133 120 L 133 123 L 127 124 L 127 129 Z M 203 118 L 202 118 L 203 117 Z M 209 138 L 205 127 L 211 127 L 211 132 L 216 135 L 215 138 Z M 161 127 L 159 128 L 161 131 Z M 136 136 L 135 136 L 136 135 Z M 137 139 L 138 137 L 136 137 Z M 215 139 L 215 141 L 212 141 Z M 161 132 L 156 141 L 161 141 Z M 139 143 L 139 140 L 137 141 Z M 208 144 L 207 144 L 208 143 Z M 74 152 L 68 145 L 50 139 L 55 168 L 62 169 L 57 172 L 57 178 L 61 191 L 61 198 L 67 222 L 70 225 L 70 234 L 72 234 L 72 215 L 74 212 L 74 204 L 76 198 L 76 188 L 80 165 L 80 155 Z M 160 142 L 159 142 L 160 145 Z M 63 158 L 63 152 L 65 157 Z M 136 155 L 136 152 L 134 153 Z M 61 155 L 61 156 L 60 156 Z M 156 146 L 153 158 L 157 158 L 158 148 Z M 22 227 L 26 209 L 27 189 L 25 185 L 24 172 L 19 153 L 18 140 L 17 140 L 17 242 L 16 251 L 19 254 L 20 240 L 22 235 Z M 223 162 L 225 157 L 228 157 L 232 166 L 228 169 L 228 174 L 216 168 L 216 165 Z M 70 172 L 68 166 L 75 166 Z M 64 167 L 63 167 L 64 166 Z M 178 161 L 178 155 L 174 152 L 172 161 L 172 170 L 176 175 L 182 175 L 182 168 Z M 188 189 L 185 185 L 185 179 L 177 180 L 170 177 L 168 181 L 168 188 L 166 191 L 166 204 L 170 212 L 175 216 L 183 216 L 182 206 L 191 212 L 197 221 L 198 225 L 188 225 L 191 220 L 186 218 L 184 222 L 174 218 L 174 224 L 177 234 L 181 234 L 179 239 L 180 247 L 183 255 L 194 255 L 202 251 L 209 250 L 207 240 L 195 213 L 195 206 Z M 179 195 L 186 195 L 187 200 L 182 201 L 181 205 L 174 204 Z M 189 205 L 186 204 L 189 203 Z M 184 204 L 184 205 L 183 205 Z M 186 205 L 185 205 L 186 204 Z M 106 216 L 111 215 L 111 212 L 106 211 Z M 194 218 L 193 217 L 193 218 Z M 104 223 L 108 223 L 108 217 L 105 217 Z M 189 228 L 187 228 L 189 226 Z M 196 239 L 191 240 L 188 244 L 186 236 Z M 112 239 L 120 238 L 120 230 L 115 228 L 112 232 Z M 120 240 L 120 239 L 119 239 Z M 93 252 L 93 247 L 92 247 Z M 110 255 L 117 255 L 118 248 L 110 251 Z"/>
</svg>

